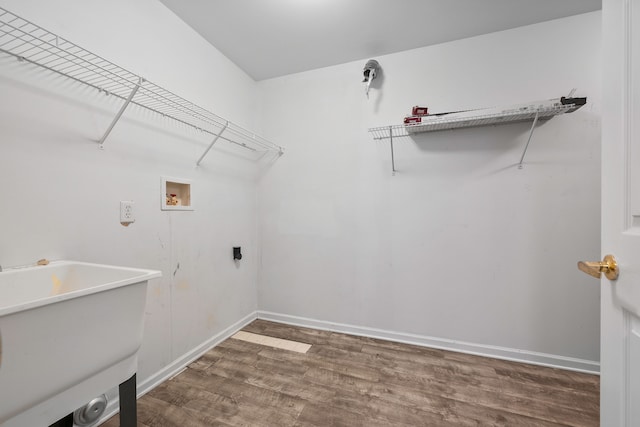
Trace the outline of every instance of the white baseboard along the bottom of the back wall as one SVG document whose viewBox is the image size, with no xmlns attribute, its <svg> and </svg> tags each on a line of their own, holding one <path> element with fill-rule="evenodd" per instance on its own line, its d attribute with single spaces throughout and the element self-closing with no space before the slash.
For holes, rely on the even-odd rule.
<svg viewBox="0 0 640 427">
<path fill-rule="evenodd" d="M 325 331 L 341 332 L 350 335 L 358 335 L 369 338 L 379 338 L 405 344 L 413 344 L 422 347 L 451 350 L 460 353 L 477 356 L 493 357 L 495 359 L 510 360 L 514 362 L 529 363 L 551 368 L 566 369 L 588 374 L 600 373 L 600 363 L 591 360 L 576 359 L 572 357 L 558 356 L 554 354 L 538 353 L 528 350 L 519 350 L 506 347 L 498 347 L 485 344 L 474 344 L 464 341 L 428 337 L 424 335 L 393 332 L 383 329 L 368 328 L 364 326 L 346 325 L 343 323 L 327 322 L 324 320 L 309 319 L 306 317 L 290 316 L 288 314 L 258 311 L 258 319 L 288 325 L 303 326 Z"/>
</svg>

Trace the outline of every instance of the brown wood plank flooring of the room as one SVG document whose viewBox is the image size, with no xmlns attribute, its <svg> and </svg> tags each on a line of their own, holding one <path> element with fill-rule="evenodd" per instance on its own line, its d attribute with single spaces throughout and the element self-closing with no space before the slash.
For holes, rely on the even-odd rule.
<svg viewBox="0 0 640 427">
<path fill-rule="evenodd" d="M 138 426 L 599 425 L 599 377 L 256 320 L 138 399 Z M 115 416 L 103 426 L 115 427 Z"/>
</svg>

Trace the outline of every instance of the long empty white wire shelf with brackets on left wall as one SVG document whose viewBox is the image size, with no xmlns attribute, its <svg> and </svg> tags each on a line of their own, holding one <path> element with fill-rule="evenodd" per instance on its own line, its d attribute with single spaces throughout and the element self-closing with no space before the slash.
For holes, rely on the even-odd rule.
<svg viewBox="0 0 640 427">
<path fill-rule="evenodd" d="M 125 101 L 101 145 L 130 103 L 213 136 L 198 164 L 218 139 L 252 151 L 279 154 L 284 151 L 279 145 L 3 8 L 0 8 L 0 52 Z"/>
</svg>

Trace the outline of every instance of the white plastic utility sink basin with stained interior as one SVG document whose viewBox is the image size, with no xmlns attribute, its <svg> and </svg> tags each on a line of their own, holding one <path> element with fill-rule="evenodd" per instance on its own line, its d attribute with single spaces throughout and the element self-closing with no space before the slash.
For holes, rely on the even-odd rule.
<svg viewBox="0 0 640 427">
<path fill-rule="evenodd" d="M 75 261 L 0 272 L 0 425 L 50 425 L 130 378 L 160 275 Z"/>
</svg>

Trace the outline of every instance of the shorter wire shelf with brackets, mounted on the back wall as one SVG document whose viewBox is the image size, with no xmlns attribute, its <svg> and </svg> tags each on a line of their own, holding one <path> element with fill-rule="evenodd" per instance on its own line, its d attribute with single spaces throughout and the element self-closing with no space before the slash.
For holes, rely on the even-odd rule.
<svg viewBox="0 0 640 427">
<path fill-rule="evenodd" d="M 394 138 L 408 137 L 423 132 L 501 125 L 533 120 L 527 143 L 524 146 L 520 162 L 518 163 L 518 169 L 522 169 L 524 157 L 529 148 L 529 143 L 533 137 L 536 125 L 540 121 L 549 120 L 559 114 L 572 113 L 585 105 L 586 102 L 587 98 L 561 97 L 506 108 L 484 108 L 455 113 L 431 114 L 421 116 L 419 123 L 369 128 L 369 133 L 376 141 L 389 139 L 391 145 L 391 172 L 395 175 L 397 170 L 393 150 Z"/>
</svg>

